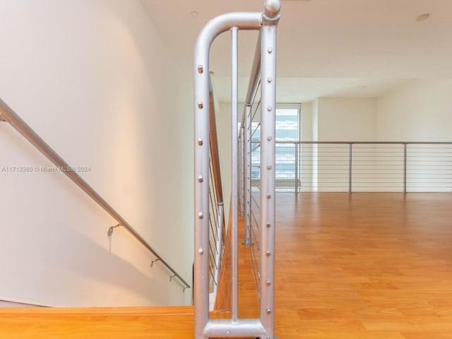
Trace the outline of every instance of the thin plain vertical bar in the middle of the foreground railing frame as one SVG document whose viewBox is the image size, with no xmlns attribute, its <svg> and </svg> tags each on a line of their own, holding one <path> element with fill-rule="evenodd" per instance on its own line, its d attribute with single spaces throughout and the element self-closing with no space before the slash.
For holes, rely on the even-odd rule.
<svg viewBox="0 0 452 339">
<path fill-rule="evenodd" d="M 238 203 L 239 196 L 239 173 L 238 173 L 238 145 L 237 145 L 237 124 L 239 112 L 239 43 L 238 43 L 237 27 L 231 28 L 231 49 L 232 49 L 232 63 L 231 63 L 231 115 L 232 115 L 232 276 L 231 276 L 231 314 L 232 321 L 237 321 L 239 318 L 239 247 L 237 240 L 239 239 L 239 220 L 238 220 Z"/>
</svg>

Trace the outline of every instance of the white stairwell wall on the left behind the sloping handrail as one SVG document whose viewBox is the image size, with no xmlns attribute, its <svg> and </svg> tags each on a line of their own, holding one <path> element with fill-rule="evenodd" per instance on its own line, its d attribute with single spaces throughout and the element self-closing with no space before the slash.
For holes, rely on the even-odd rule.
<svg viewBox="0 0 452 339">
<path fill-rule="evenodd" d="M 0 1 L 0 95 L 191 282 L 191 84 L 138 0 Z M 0 169 L 52 164 L 0 124 Z M 0 299 L 189 304 L 191 290 L 60 173 L 0 172 Z"/>
</svg>

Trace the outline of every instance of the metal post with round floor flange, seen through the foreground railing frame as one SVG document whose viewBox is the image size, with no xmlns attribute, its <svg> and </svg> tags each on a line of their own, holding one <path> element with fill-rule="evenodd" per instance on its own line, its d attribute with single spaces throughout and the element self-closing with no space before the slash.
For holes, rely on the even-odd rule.
<svg viewBox="0 0 452 339">
<path fill-rule="evenodd" d="M 245 213 L 244 213 L 244 225 L 245 225 L 245 234 L 242 244 L 251 245 L 251 105 L 246 104 L 245 106 L 245 121 L 244 121 L 244 141 L 245 141 L 245 150 L 244 150 L 244 167 L 245 167 L 245 178 L 244 178 L 244 186 L 245 186 Z"/>
</svg>

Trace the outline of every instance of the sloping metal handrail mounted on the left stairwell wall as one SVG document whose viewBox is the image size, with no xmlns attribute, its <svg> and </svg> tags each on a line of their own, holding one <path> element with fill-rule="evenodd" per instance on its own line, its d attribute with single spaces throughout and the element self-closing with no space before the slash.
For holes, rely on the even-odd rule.
<svg viewBox="0 0 452 339">
<path fill-rule="evenodd" d="M 140 242 L 143 246 L 145 246 L 146 249 L 150 251 L 156 258 L 158 258 L 163 265 L 168 268 L 168 270 L 173 274 L 174 277 L 177 277 L 181 283 L 184 285 L 184 287 L 190 287 L 189 283 L 187 283 L 184 278 L 182 278 L 179 273 L 172 268 L 169 263 L 153 248 L 153 246 L 150 246 L 148 242 L 145 241 L 143 237 L 141 237 L 136 230 L 133 229 L 133 227 L 127 222 L 124 218 L 117 213 L 112 206 L 105 201 L 100 194 L 97 193 L 91 187 L 88 182 L 86 182 L 80 175 L 77 174 L 77 172 L 73 171 L 73 167 L 69 166 L 69 164 L 60 157 L 28 124 L 21 119 L 16 112 L 11 109 L 6 103 L 0 99 L 0 114 L 2 117 L 4 117 L 4 120 L 7 121 L 11 126 L 13 126 L 16 131 L 18 131 L 22 136 L 27 139 L 32 145 L 37 148 L 43 155 L 47 157 L 51 162 L 54 163 L 59 168 L 64 168 L 63 172 L 66 174 L 69 179 L 72 180 L 78 187 L 82 189 L 82 191 L 85 192 L 85 194 L 88 194 L 90 198 L 92 198 L 101 208 L 103 208 L 109 215 L 116 220 L 119 225 L 126 228 L 127 231 L 129 231 L 130 234 L 135 237 L 138 242 Z"/>
</svg>

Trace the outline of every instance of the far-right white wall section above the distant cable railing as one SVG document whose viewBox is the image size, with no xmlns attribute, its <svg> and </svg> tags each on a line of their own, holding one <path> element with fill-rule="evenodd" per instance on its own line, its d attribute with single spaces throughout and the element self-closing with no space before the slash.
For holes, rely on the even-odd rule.
<svg viewBox="0 0 452 339">
<path fill-rule="evenodd" d="M 452 80 L 414 80 L 377 100 L 379 141 L 451 141 Z"/>
</svg>

